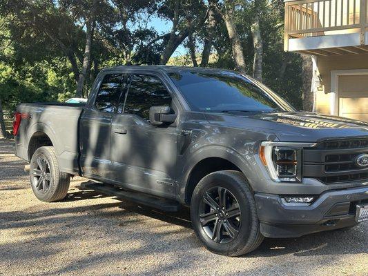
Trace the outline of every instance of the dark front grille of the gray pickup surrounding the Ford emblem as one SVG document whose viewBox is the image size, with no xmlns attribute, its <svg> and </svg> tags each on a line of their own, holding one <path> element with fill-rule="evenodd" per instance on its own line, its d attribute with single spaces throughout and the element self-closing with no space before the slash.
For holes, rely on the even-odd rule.
<svg viewBox="0 0 368 276">
<path fill-rule="evenodd" d="M 356 159 L 368 153 L 368 139 L 322 141 L 303 151 L 303 175 L 325 184 L 368 180 L 368 168 L 361 168 Z"/>
</svg>

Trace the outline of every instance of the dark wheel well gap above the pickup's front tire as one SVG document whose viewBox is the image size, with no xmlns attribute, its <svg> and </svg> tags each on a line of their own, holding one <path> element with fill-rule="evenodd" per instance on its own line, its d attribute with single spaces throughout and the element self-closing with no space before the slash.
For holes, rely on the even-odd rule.
<svg viewBox="0 0 368 276">
<path fill-rule="evenodd" d="M 191 175 L 189 175 L 185 194 L 185 201 L 187 204 L 191 203 L 193 191 L 198 182 L 206 175 L 209 175 L 211 172 L 217 172 L 219 170 L 238 170 L 240 172 L 242 171 L 231 161 L 220 157 L 209 157 L 201 160 L 195 165 L 195 167 L 191 171 Z"/>
</svg>

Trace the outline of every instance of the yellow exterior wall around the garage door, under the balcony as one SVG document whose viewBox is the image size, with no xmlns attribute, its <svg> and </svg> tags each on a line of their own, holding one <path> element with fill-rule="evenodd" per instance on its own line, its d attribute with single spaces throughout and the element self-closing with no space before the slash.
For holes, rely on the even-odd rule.
<svg viewBox="0 0 368 276">
<path fill-rule="evenodd" d="M 323 89 L 316 92 L 316 111 L 323 114 L 331 112 L 331 71 L 368 69 L 368 52 L 364 55 L 333 55 L 318 57 L 317 67 L 322 79 Z"/>
</svg>

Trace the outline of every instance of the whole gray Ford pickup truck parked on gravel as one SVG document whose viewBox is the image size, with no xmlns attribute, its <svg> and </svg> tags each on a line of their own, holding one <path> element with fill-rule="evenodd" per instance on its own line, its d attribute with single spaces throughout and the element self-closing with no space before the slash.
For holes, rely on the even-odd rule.
<svg viewBox="0 0 368 276">
<path fill-rule="evenodd" d="M 368 124 L 296 111 L 229 70 L 105 69 L 86 104 L 20 104 L 14 137 L 38 199 L 64 199 L 81 175 L 107 195 L 190 206 L 222 255 L 368 219 Z"/>
</svg>

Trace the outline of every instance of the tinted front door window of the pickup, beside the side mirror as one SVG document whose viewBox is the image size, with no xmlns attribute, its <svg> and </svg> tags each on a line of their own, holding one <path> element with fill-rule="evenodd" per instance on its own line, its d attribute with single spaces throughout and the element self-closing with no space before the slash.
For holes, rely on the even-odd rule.
<svg viewBox="0 0 368 276">
<path fill-rule="evenodd" d="M 124 112 L 149 119 L 151 106 L 171 106 L 171 96 L 157 77 L 133 75 Z"/>
</svg>

